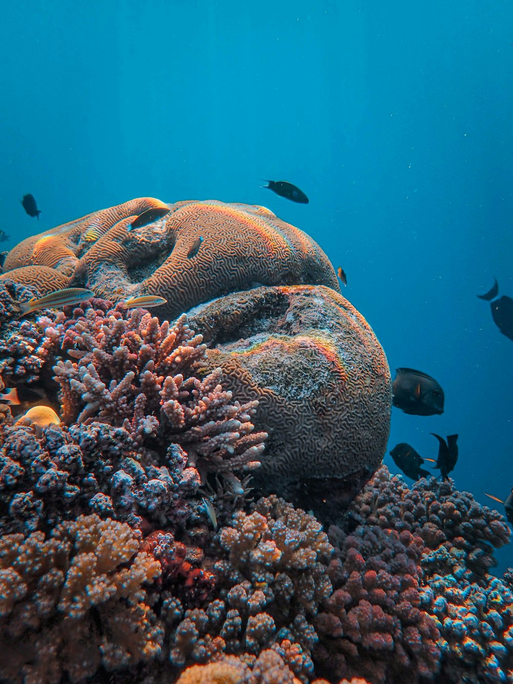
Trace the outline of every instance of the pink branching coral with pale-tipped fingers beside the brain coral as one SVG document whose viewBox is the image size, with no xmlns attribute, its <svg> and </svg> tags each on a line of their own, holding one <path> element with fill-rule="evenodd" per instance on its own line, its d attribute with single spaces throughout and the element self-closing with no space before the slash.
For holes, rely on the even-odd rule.
<svg viewBox="0 0 513 684">
<path fill-rule="evenodd" d="M 54 367 L 66 423 L 122 426 L 141 453 L 161 452 L 172 440 L 186 447 L 190 465 L 222 473 L 235 491 L 233 471 L 259 466 L 267 434 L 252 434 L 257 402 L 231 403 L 220 369 L 202 380 L 193 374 L 205 365 L 205 345 L 185 315 L 170 326 L 140 309 L 89 309 L 66 327 L 62 350 L 75 359 Z"/>
</svg>

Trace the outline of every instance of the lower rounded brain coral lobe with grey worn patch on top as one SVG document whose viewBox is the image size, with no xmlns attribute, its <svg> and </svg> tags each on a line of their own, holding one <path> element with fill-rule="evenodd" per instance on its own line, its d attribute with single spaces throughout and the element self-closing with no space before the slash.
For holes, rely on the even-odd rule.
<svg viewBox="0 0 513 684">
<path fill-rule="evenodd" d="M 258 399 L 255 421 L 268 434 L 257 477 L 274 491 L 293 481 L 326 498 L 360 486 L 381 462 L 389 435 L 391 381 L 367 321 L 323 286 L 260 287 L 198 307 L 189 324 L 209 346 L 212 367 L 243 402 Z M 288 484 L 287 484 L 288 483 Z M 328 505 L 326 503 L 325 505 Z"/>
</svg>

